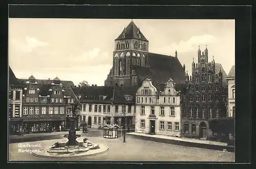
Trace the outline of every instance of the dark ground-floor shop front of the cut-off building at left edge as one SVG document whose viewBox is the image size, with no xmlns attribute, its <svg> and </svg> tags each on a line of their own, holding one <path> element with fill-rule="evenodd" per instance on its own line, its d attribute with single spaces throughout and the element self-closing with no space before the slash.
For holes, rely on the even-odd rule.
<svg viewBox="0 0 256 169">
<path fill-rule="evenodd" d="M 9 134 L 20 135 L 22 134 L 23 119 L 11 118 L 9 119 Z"/>
</svg>

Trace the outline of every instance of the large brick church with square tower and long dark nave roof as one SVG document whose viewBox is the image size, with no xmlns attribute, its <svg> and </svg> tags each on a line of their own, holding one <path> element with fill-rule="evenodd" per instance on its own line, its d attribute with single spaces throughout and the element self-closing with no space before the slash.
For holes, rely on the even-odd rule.
<svg viewBox="0 0 256 169">
<path fill-rule="evenodd" d="M 133 21 L 115 39 L 113 67 L 105 86 L 141 86 L 151 78 L 154 86 L 163 85 L 173 75 L 177 83 L 185 83 L 185 67 L 175 57 L 148 52 L 148 40 Z"/>
</svg>

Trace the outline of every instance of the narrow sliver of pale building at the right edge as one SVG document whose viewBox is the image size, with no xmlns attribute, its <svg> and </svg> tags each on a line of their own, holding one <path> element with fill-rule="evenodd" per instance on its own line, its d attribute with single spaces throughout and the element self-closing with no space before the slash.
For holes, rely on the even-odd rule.
<svg viewBox="0 0 256 169">
<path fill-rule="evenodd" d="M 236 74 L 235 74 L 235 66 L 232 66 L 228 75 L 227 75 L 227 83 L 228 83 L 228 117 L 234 117 L 236 110 L 236 100 L 235 100 L 235 90 L 236 90 Z"/>
</svg>

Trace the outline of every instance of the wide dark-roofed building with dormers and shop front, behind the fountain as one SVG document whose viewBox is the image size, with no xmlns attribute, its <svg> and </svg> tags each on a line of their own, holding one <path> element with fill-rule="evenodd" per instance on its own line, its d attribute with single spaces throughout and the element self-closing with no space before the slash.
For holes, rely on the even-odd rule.
<svg viewBox="0 0 256 169">
<path fill-rule="evenodd" d="M 51 84 L 40 84 L 30 76 L 23 84 L 23 121 L 25 132 L 45 132 L 69 128 L 71 107 L 78 103 L 76 114 L 79 117 L 80 103 L 70 86 L 63 86 L 60 79 Z M 78 118 L 75 126 L 78 126 Z"/>
</svg>

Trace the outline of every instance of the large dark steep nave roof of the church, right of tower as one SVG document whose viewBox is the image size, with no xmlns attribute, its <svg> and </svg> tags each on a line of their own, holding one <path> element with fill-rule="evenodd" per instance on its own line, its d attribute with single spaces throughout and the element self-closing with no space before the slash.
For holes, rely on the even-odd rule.
<svg viewBox="0 0 256 169">
<path fill-rule="evenodd" d="M 164 85 L 171 76 L 175 83 L 185 83 L 185 71 L 176 57 L 148 53 L 148 66 L 133 66 L 140 83 L 143 79 L 150 78 L 152 84 L 158 88 Z"/>
</svg>

